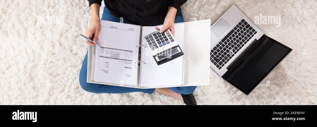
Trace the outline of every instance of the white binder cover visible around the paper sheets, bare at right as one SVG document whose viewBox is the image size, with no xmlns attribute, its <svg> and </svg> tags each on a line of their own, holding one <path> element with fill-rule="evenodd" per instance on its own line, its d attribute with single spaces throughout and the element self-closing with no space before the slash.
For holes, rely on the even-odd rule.
<svg viewBox="0 0 317 127">
<path fill-rule="evenodd" d="M 179 84 L 175 84 L 175 86 L 173 85 L 169 85 L 169 86 L 146 85 L 149 87 L 141 87 L 139 86 L 139 80 L 137 82 L 137 85 L 135 86 L 92 81 L 91 80 L 91 75 L 92 75 L 91 66 L 92 66 L 93 46 L 90 46 L 90 45 L 88 45 L 87 82 L 113 85 L 113 86 L 131 87 L 131 88 L 166 88 L 166 87 L 209 85 L 209 81 L 210 81 L 209 80 L 209 77 L 210 77 L 210 66 L 209 66 L 210 19 L 201 20 L 201 21 L 176 23 L 176 24 L 184 24 L 184 39 L 183 39 L 184 44 L 182 49 L 184 52 L 184 55 L 183 55 L 183 71 L 184 72 L 182 74 L 183 82 L 181 85 Z M 138 78 L 139 77 L 140 76 L 138 76 Z M 155 78 L 155 76 L 153 76 L 153 78 Z"/>
</svg>

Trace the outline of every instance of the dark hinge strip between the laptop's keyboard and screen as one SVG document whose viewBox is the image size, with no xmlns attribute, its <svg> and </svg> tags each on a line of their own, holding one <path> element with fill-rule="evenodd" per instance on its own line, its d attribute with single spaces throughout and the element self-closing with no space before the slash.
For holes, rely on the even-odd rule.
<svg viewBox="0 0 317 127">
<path fill-rule="evenodd" d="M 246 60 L 250 56 L 250 52 L 259 44 L 259 41 L 257 39 L 254 39 L 253 42 L 245 48 L 241 54 L 236 57 L 235 60 L 227 67 L 227 72 L 231 72 L 241 61 Z M 227 73 L 226 72 L 226 73 Z"/>
</svg>

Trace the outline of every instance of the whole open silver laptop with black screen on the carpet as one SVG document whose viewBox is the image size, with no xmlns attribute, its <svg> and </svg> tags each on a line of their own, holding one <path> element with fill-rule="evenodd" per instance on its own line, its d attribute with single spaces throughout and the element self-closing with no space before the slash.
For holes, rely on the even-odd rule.
<svg viewBox="0 0 317 127">
<path fill-rule="evenodd" d="M 210 67 L 245 95 L 292 51 L 266 36 L 236 5 L 210 28 Z"/>
</svg>

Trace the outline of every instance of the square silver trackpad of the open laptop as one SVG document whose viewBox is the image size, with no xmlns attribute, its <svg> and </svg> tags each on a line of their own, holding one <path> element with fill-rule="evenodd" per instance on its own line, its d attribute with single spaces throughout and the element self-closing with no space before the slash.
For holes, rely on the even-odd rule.
<svg viewBox="0 0 317 127">
<path fill-rule="evenodd" d="M 227 21 L 221 18 L 217 24 L 212 27 L 210 30 L 214 33 L 218 38 L 230 27 Z"/>
</svg>

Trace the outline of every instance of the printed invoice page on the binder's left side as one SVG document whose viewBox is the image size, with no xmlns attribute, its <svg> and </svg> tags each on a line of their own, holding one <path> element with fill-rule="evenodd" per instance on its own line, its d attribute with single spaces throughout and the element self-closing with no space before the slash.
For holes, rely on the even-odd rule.
<svg viewBox="0 0 317 127">
<path fill-rule="evenodd" d="M 100 25 L 94 80 L 137 85 L 140 26 L 103 20 Z"/>
</svg>

